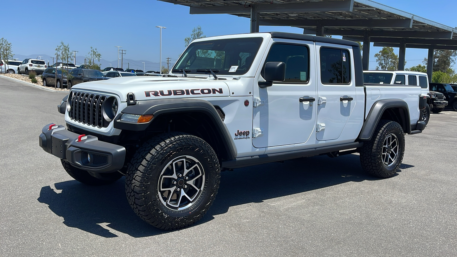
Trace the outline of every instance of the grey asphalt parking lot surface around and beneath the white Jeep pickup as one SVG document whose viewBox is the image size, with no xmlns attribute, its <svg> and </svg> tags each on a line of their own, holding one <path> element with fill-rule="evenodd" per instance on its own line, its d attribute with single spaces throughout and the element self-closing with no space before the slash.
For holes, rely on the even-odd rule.
<svg viewBox="0 0 457 257">
<path fill-rule="evenodd" d="M 0 256 L 457 256 L 457 112 L 405 137 L 395 177 L 355 154 L 224 171 L 201 221 L 163 231 L 130 209 L 124 178 L 83 185 L 39 147 L 65 94 L 0 78 Z"/>
</svg>

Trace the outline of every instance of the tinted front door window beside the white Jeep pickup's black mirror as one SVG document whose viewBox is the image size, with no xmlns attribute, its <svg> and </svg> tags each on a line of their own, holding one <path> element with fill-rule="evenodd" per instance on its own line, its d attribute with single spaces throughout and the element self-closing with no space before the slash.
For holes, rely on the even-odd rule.
<svg viewBox="0 0 457 257">
<path fill-rule="evenodd" d="M 307 83 L 309 80 L 309 49 L 304 45 L 273 44 L 266 57 L 267 62 L 286 64 L 286 79 L 279 83 Z"/>
</svg>

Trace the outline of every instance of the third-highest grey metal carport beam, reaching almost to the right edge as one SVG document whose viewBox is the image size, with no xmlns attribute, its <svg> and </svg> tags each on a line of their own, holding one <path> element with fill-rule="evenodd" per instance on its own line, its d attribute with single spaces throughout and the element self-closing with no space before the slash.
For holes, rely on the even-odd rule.
<svg viewBox="0 0 457 257">
<path fill-rule="evenodd" d="M 325 29 L 325 35 L 359 36 L 363 37 L 367 30 Z M 411 37 L 411 38 L 443 38 L 452 39 L 452 32 L 441 31 L 387 31 L 370 30 L 371 37 Z"/>
</svg>

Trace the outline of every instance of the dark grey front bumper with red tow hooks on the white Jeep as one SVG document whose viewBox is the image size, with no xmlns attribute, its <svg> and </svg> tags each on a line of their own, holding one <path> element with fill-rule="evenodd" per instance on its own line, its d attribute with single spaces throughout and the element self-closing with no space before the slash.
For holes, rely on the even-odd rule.
<svg viewBox="0 0 457 257">
<path fill-rule="evenodd" d="M 63 125 L 51 123 L 43 127 L 39 142 L 46 152 L 82 170 L 110 173 L 124 166 L 126 150 L 123 146 L 99 141 L 91 135 L 82 140 L 79 137 Z"/>
</svg>

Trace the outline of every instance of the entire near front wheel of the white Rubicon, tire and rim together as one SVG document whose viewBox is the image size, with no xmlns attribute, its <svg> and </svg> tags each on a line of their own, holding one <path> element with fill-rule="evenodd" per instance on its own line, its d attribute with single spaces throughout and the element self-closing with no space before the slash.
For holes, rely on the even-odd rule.
<svg viewBox="0 0 457 257">
<path fill-rule="evenodd" d="M 218 192 L 220 166 L 213 148 L 189 134 L 149 139 L 128 164 L 128 203 L 144 221 L 164 230 L 189 226 Z"/>
</svg>

